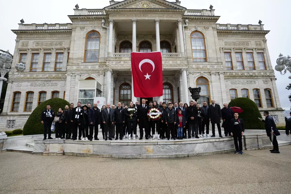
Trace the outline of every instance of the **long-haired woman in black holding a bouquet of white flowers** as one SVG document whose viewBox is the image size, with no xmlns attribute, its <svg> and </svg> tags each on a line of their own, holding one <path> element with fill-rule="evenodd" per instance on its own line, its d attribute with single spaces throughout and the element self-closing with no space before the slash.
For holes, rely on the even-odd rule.
<svg viewBox="0 0 291 194">
<path fill-rule="evenodd" d="M 125 118 L 127 121 L 127 133 L 128 133 L 128 140 L 130 140 L 130 134 L 133 133 L 133 140 L 135 140 L 136 136 L 136 115 L 137 109 L 133 106 L 133 102 L 129 102 L 129 107 L 125 111 Z"/>
</svg>

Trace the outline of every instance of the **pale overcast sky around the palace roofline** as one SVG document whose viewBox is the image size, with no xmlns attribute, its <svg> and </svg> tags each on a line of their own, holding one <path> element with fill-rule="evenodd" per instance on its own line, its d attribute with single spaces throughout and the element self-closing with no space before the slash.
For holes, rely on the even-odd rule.
<svg viewBox="0 0 291 194">
<path fill-rule="evenodd" d="M 174 0 L 171 0 L 174 1 Z M 188 9 L 209 9 L 212 4 L 215 9 L 215 15 L 221 16 L 217 23 L 220 24 L 258 24 L 259 19 L 262 24 L 265 24 L 264 29 L 270 30 L 266 35 L 267 45 L 273 68 L 276 65 L 276 59 L 279 53 L 284 56 L 291 56 L 291 25 L 290 0 L 180 0 L 181 6 Z M 71 23 L 67 15 L 74 15 L 73 9 L 76 4 L 80 8 L 100 9 L 109 6 L 109 0 L 50 0 L 50 1 L 1 1 L 1 42 L 0 49 L 9 49 L 10 53 L 14 53 L 16 35 L 11 32 L 11 29 L 18 29 L 20 19 L 24 19 L 25 24 L 43 24 L 43 23 Z M 277 78 L 276 84 L 279 92 L 281 107 L 290 109 L 291 103 L 288 99 L 288 94 L 291 90 L 286 90 L 285 87 L 291 83 L 288 79 L 290 73 L 280 75 L 275 71 Z M 261 91 L 261 95 L 264 95 Z"/>
</svg>

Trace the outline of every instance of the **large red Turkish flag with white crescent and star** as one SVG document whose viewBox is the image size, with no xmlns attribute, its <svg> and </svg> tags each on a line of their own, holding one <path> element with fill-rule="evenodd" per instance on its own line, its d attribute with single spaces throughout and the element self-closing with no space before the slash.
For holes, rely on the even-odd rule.
<svg viewBox="0 0 291 194">
<path fill-rule="evenodd" d="M 132 52 L 131 68 L 135 97 L 163 95 L 163 73 L 161 52 Z"/>
</svg>

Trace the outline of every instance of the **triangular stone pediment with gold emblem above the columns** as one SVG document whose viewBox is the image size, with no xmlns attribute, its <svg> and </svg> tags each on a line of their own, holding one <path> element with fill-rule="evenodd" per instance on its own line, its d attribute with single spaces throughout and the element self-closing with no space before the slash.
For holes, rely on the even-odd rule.
<svg viewBox="0 0 291 194">
<path fill-rule="evenodd" d="M 164 0 L 126 0 L 115 3 L 105 9 L 185 9 L 175 3 Z"/>
</svg>

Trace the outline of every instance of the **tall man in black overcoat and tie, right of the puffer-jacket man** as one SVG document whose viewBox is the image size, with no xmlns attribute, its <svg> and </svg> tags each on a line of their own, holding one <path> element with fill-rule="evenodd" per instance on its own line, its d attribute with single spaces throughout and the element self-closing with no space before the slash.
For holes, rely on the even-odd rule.
<svg viewBox="0 0 291 194">
<path fill-rule="evenodd" d="M 211 100 L 211 104 L 208 107 L 208 118 L 212 125 L 211 137 L 215 137 L 215 124 L 217 125 L 219 137 L 222 137 L 220 128 L 220 120 L 222 120 L 221 108 L 218 104 L 215 104 L 215 100 Z"/>
</svg>

